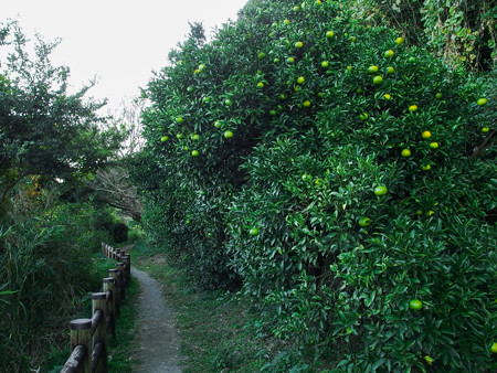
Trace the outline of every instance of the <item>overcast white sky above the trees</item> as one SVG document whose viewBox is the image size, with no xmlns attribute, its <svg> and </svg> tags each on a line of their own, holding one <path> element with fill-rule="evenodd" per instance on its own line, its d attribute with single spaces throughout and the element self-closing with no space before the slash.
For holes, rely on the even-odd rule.
<svg viewBox="0 0 497 373">
<path fill-rule="evenodd" d="M 107 97 L 110 109 L 137 96 L 151 71 L 167 64 L 169 51 L 189 32 L 189 21 L 202 22 L 210 34 L 235 20 L 246 1 L 10 0 L 2 1 L 0 21 L 19 19 L 29 36 L 36 31 L 46 40 L 61 38 L 53 64 L 71 68 L 76 88 L 96 76 L 89 96 Z"/>
</svg>

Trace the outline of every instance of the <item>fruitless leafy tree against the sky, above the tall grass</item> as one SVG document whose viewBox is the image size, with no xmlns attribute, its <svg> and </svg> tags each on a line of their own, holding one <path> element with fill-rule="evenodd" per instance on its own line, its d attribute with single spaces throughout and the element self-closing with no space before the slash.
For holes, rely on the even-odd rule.
<svg viewBox="0 0 497 373">
<path fill-rule="evenodd" d="M 57 42 L 38 36 L 32 58 L 17 23 L 3 29 L 0 46 L 10 53 L 0 75 L 1 202 L 29 174 L 81 178 L 104 164 L 120 140 L 118 132 L 99 129 L 104 118 L 96 110 L 103 104 L 83 99 L 89 87 L 67 93 L 68 68 L 49 60 Z"/>
</svg>

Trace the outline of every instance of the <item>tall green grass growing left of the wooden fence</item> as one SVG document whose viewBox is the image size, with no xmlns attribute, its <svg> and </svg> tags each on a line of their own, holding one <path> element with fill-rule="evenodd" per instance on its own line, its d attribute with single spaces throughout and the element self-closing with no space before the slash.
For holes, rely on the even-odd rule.
<svg viewBox="0 0 497 373">
<path fill-rule="evenodd" d="M 105 232 L 95 232 L 93 212 L 89 204 L 21 191 L 0 215 L 1 372 L 39 366 L 47 351 L 66 343 L 67 319 L 85 291 L 99 286 L 92 253 Z"/>
</svg>

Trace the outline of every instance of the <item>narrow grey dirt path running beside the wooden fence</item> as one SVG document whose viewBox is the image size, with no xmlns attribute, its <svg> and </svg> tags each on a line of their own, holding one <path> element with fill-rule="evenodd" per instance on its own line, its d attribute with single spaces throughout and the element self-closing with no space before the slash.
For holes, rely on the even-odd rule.
<svg viewBox="0 0 497 373">
<path fill-rule="evenodd" d="M 131 275 L 141 286 L 138 313 L 139 349 L 133 360 L 138 361 L 139 373 L 182 372 L 178 365 L 179 339 L 171 308 L 159 283 L 147 273 L 131 266 Z"/>
</svg>

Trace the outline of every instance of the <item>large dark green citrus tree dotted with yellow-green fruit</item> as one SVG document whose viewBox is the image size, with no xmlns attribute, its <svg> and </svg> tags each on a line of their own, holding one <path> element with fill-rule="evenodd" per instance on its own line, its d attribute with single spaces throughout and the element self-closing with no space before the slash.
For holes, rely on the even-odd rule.
<svg viewBox="0 0 497 373">
<path fill-rule="evenodd" d="M 250 1 L 170 60 L 133 172 L 171 258 L 336 367 L 495 367 L 495 78 L 336 1 Z"/>
</svg>

